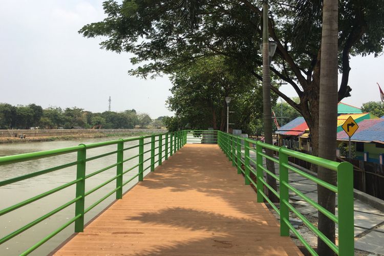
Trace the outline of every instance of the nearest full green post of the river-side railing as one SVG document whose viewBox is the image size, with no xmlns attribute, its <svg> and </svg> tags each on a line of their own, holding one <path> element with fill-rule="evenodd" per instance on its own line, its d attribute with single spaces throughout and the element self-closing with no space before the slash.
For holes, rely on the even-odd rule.
<svg viewBox="0 0 384 256">
<path fill-rule="evenodd" d="M 81 179 L 76 183 L 76 197 L 81 197 L 80 200 L 76 201 L 75 204 L 75 216 L 81 215 L 75 221 L 75 232 L 84 231 L 84 204 L 85 204 L 85 193 L 86 193 L 86 159 L 87 159 L 87 147 L 84 144 L 81 150 L 77 152 L 77 168 L 76 168 L 76 179 Z"/>
</svg>

